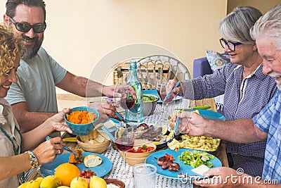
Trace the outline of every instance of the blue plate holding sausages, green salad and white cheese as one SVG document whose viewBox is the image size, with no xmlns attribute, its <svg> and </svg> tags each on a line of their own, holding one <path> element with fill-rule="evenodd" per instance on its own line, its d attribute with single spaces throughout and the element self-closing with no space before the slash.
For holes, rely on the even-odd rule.
<svg viewBox="0 0 281 188">
<path fill-rule="evenodd" d="M 169 177 L 171 179 L 178 179 L 181 180 L 182 177 L 178 177 L 179 173 L 182 173 L 183 175 L 195 175 L 195 176 L 200 176 L 197 173 L 194 173 L 192 171 L 193 167 L 191 165 L 185 165 L 183 164 L 183 161 L 178 159 L 178 156 L 181 155 L 181 153 L 183 153 L 183 151 L 193 151 L 194 149 L 178 149 L 178 152 L 171 150 L 171 149 L 166 149 L 166 150 L 162 150 L 162 151 L 157 151 L 155 153 L 150 154 L 146 159 L 145 159 L 145 163 L 148 164 L 152 164 L 155 165 L 157 168 L 157 175 L 162 175 L 164 177 Z M 201 151 L 200 151 L 201 152 Z M 162 156 L 165 156 L 165 153 L 172 155 L 176 160 L 174 161 L 174 163 L 178 163 L 180 165 L 180 170 L 178 171 L 170 171 L 168 169 L 164 170 L 162 169 L 162 167 L 160 165 L 157 165 L 157 159 L 156 158 L 160 158 Z M 214 158 L 210 160 L 211 163 L 214 164 L 214 167 L 221 167 L 221 161 L 218 160 L 218 158 Z M 214 168 L 213 167 L 213 168 Z"/>
</svg>

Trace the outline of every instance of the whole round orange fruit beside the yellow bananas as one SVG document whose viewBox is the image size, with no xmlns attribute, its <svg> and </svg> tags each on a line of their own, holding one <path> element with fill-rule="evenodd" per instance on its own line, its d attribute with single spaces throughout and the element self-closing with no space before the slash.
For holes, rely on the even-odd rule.
<svg viewBox="0 0 281 188">
<path fill-rule="evenodd" d="M 80 170 L 76 165 L 63 163 L 55 169 L 55 176 L 60 179 L 62 185 L 70 187 L 70 182 L 80 175 Z"/>
</svg>

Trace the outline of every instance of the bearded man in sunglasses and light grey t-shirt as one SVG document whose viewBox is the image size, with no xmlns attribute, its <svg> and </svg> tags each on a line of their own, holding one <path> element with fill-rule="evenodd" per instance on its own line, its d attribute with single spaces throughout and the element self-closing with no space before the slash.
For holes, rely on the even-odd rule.
<svg viewBox="0 0 281 188">
<path fill-rule="evenodd" d="M 129 85 L 104 86 L 69 73 L 41 47 L 46 29 L 46 8 L 43 0 L 8 0 L 4 24 L 21 35 L 24 48 L 18 68 L 18 82 L 11 84 L 6 97 L 21 132 L 34 129 L 58 112 L 55 86 L 79 96 L 120 96 L 119 87 L 134 90 Z M 100 121 L 107 115 L 115 117 L 110 104 L 92 104 L 100 113 Z M 60 134 L 56 134 L 59 135 Z"/>
</svg>

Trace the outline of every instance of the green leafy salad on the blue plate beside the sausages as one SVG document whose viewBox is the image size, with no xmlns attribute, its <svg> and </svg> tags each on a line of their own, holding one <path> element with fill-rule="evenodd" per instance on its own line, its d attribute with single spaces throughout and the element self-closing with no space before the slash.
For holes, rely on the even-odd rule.
<svg viewBox="0 0 281 188">
<path fill-rule="evenodd" d="M 185 165 L 191 165 L 193 168 L 196 168 L 200 165 L 207 165 L 209 168 L 213 167 L 213 163 L 209 161 L 215 157 L 206 151 L 183 151 L 181 156 L 178 156 L 178 159 L 183 161 Z"/>
</svg>

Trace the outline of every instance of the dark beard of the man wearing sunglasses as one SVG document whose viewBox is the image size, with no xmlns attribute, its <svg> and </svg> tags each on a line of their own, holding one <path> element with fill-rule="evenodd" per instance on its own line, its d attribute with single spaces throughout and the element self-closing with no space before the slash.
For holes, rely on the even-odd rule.
<svg viewBox="0 0 281 188">
<path fill-rule="evenodd" d="M 42 42 L 43 42 L 43 38 L 44 37 L 42 37 L 41 39 L 39 39 L 39 37 L 34 37 L 34 38 L 32 38 L 32 39 L 30 39 L 30 37 L 27 37 L 27 36 L 25 36 L 25 35 L 23 35 L 22 34 L 22 39 L 23 39 L 23 41 L 28 41 L 28 42 L 30 42 L 30 41 L 34 41 L 34 45 L 27 45 L 27 44 L 25 44 L 24 46 L 23 46 L 23 49 L 22 49 L 22 58 L 24 59 L 24 60 L 29 60 L 29 59 L 31 59 L 31 58 L 34 58 L 34 56 L 36 56 L 37 55 L 37 52 L 39 51 L 39 49 L 40 49 L 40 47 L 41 47 L 41 44 L 42 44 Z"/>
</svg>

